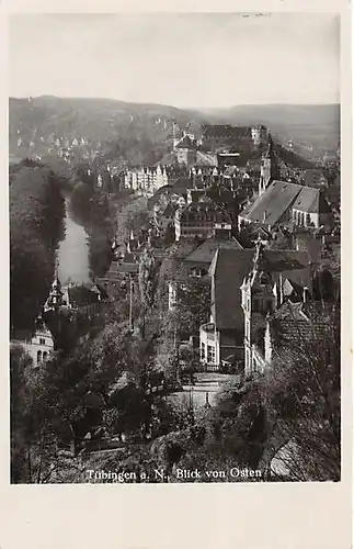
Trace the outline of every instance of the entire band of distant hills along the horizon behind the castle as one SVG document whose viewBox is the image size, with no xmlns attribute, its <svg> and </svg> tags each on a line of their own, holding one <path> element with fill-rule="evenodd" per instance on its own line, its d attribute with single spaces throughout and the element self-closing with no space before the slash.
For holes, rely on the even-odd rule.
<svg viewBox="0 0 354 549">
<path fill-rule="evenodd" d="M 84 138 L 92 144 L 124 143 L 125 148 L 163 156 L 172 144 L 173 122 L 199 136 L 202 125 L 229 123 L 266 125 L 274 136 L 292 138 L 313 150 L 335 149 L 339 143 L 339 105 L 240 105 L 203 112 L 163 104 L 128 103 L 111 99 L 10 98 L 10 155 L 45 154 L 57 137 Z M 19 137 L 21 137 L 19 145 Z M 138 147 L 137 147 L 138 144 Z"/>
</svg>

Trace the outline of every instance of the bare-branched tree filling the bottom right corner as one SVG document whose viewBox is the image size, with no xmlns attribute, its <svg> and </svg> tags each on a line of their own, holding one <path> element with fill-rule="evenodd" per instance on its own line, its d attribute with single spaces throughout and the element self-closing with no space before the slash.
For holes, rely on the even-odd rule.
<svg viewBox="0 0 354 549">
<path fill-rule="evenodd" d="M 324 306 L 283 348 L 262 381 L 273 423 L 273 438 L 293 480 L 338 481 L 341 478 L 340 311 Z M 270 437 L 271 438 L 271 437 Z M 272 462 L 269 463 L 272 466 Z"/>
</svg>

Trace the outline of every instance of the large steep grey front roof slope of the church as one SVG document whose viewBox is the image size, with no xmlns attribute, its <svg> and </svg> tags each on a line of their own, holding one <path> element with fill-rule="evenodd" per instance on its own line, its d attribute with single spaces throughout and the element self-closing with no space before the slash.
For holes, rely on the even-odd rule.
<svg viewBox="0 0 354 549">
<path fill-rule="evenodd" d="M 255 223 L 275 225 L 292 206 L 302 189 L 304 187 L 300 184 L 275 180 L 255 202 L 240 213 L 240 217 Z"/>
</svg>

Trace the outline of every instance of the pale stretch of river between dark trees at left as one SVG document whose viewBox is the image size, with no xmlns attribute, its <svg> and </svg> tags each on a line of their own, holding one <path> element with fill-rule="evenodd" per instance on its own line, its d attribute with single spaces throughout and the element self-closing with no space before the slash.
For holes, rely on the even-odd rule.
<svg viewBox="0 0 354 549">
<path fill-rule="evenodd" d="M 59 280 L 62 284 L 68 281 L 85 283 L 90 281 L 88 234 L 72 220 L 69 197 L 65 200 L 65 238 L 59 243 L 57 251 Z"/>
</svg>

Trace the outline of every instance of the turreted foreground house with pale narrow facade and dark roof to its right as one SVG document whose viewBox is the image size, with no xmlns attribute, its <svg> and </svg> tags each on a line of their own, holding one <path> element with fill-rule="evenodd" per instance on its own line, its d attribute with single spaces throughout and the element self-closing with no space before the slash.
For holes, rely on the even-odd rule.
<svg viewBox="0 0 354 549">
<path fill-rule="evenodd" d="M 273 251 L 256 244 L 253 267 L 244 278 L 241 303 L 244 318 L 244 373 L 264 371 L 270 361 L 265 346 L 266 321 L 285 301 L 307 301 L 311 288 L 308 255 L 299 251 Z M 267 337 L 269 340 L 269 337 Z"/>
</svg>

